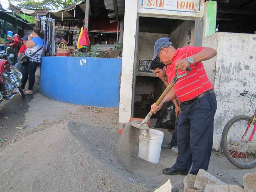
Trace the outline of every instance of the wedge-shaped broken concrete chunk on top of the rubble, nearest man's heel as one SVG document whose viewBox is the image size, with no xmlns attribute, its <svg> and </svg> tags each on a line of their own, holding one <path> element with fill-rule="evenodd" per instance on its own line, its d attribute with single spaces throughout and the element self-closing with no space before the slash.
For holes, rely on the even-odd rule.
<svg viewBox="0 0 256 192">
<path fill-rule="evenodd" d="M 197 178 L 195 179 L 195 189 L 205 189 L 205 186 L 207 184 L 212 185 L 226 185 L 226 183 L 223 183 L 221 180 L 217 179 L 207 171 L 203 169 L 199 169 Z"/>
</svg>

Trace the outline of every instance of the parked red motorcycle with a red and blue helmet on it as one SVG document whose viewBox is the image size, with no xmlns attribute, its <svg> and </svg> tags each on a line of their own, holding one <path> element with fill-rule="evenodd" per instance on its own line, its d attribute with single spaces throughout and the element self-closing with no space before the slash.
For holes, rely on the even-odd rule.
<svg viewBox="0 0 256 192">
<path fill-rule="evenodd" d="M 15 71 L 10 60 L 14 55 L 9 54 L 12 47 L 21 45 L 21 37 L 15 34 L 15 32 L 8 31 L 7 40 L 8 42 L 5 43 L 8 46 L 6 51 L 0 51 L 0 103 L 4 99 L 11 99 L 16 93 L 19 93 L 22 98 L 25 97 L 24 91 L 21 88 L 22 74 Z"/>
</svg>

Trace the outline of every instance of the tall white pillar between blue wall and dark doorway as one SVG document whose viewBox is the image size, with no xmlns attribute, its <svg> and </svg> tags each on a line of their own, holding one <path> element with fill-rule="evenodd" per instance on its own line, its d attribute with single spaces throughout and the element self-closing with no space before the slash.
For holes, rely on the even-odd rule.
<svg viewBox="0 0 256 192">
<path fill-rule="evenodd" d="M 125 1 L 123 29 L 123 57 L 120 82 L 119 122 L 127 123 L 131 117 L 137 0 Z"/>
</svg>

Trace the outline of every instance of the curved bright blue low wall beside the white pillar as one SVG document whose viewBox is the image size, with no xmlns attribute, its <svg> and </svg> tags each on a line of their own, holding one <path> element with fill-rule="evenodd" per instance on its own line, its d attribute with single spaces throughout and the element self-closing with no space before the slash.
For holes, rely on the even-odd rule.
<svg viewBox="0 0 256 192">
<path fill-rule="evenodd" d="M 43 57 L 40 92 L 76 105 L 118 107 L 121 58 Z"/>
</svg>

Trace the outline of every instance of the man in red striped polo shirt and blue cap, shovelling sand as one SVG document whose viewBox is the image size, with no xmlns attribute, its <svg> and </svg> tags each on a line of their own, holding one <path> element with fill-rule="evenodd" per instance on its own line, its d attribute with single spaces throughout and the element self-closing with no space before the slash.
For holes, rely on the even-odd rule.
<svg viewBox="0 0 256 192">
<path fill-rule="evenodd" d="M 214 87 L 209 81 L 202 61 L 213 58 L 216 51 L 209 47 L 186 46 L 175 49 L 169 38 L 155 42 L 154 56 L 167 65 L 168 82 L 175 71 L 182 75 L 187 67 L 189 74 L 180 78 L 159 106 L 153 104 L 153 113 L 159 111 L 163 103 L 176 96 L 181 101 L 181 114 L 178 122 L 178 157 L 171 168 L 163 169 L 167 175 L 196 175 L 199 169 L 207 171 L 213 146 L 213 120 L 217 109 Z"/>
</svg>

